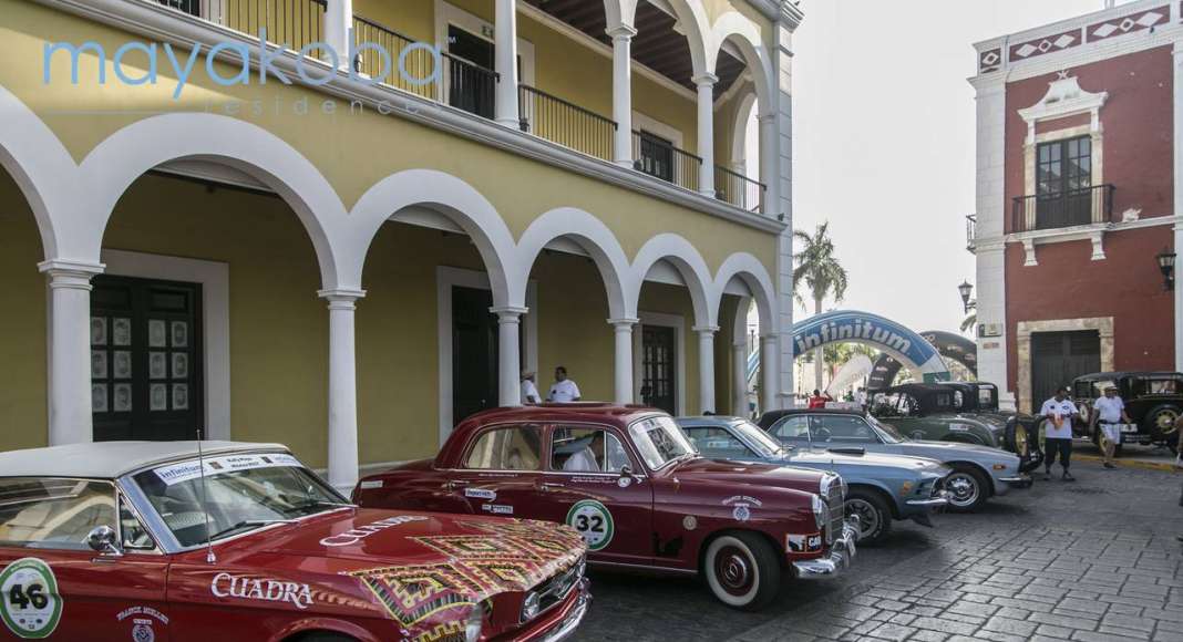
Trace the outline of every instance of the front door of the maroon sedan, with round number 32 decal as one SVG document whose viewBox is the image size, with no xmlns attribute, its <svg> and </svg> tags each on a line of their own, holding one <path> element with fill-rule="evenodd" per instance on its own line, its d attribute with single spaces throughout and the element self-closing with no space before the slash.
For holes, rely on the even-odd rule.
<svg viewBox="0 0 1183 642">
<path fill-rule="evenodd" d="M 626 437 L 614 428 L 592 424 L 555 424 L 545 434 L 536 495 L 542 519 L 583 534 L 594 560 L 648 565 L 653 484 Z"/>
</svg>

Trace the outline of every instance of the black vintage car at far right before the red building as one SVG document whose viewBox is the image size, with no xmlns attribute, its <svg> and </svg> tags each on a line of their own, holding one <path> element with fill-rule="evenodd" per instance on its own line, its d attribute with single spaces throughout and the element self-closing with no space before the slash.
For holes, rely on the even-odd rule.
<svg viewBox="0 0 1183 642">
<path fill-rule="evenodd" d="M 1137 432 L 1121 433 L 1123 443 L 1152 443 L 1177 449 L 1175 421 L 1183 414 L 1183 372 L 1097 372 L 1077 377 L 1072 382 L 1072 397 L 1081 407 L 1081 416 L 1091 416 L 1093 402 L 1111 385 L 1117 388 L 1125 402 L 1125 413 L 1137 426 Z M 1095 440 L 1095 426 L 1081 423 L 1073 432 Z"/>
</svg>

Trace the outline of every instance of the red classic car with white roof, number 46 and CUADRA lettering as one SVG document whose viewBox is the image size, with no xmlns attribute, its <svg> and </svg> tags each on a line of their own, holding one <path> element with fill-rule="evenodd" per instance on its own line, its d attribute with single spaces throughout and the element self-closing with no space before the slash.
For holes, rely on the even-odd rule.
<svg viewBox="0 0 1183 642">
<path fill-rule="evenodd" d="M 282 446 L 0 453 L 0 640 L 554 641 L 586 545 L 541 521 L 350 505 Z"/>
</svg>

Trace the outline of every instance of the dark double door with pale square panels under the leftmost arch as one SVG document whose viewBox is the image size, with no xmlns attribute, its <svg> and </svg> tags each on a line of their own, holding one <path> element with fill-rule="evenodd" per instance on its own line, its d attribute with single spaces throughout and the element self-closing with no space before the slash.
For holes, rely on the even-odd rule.
<svg viewBox="0 0 1183 642">
<path fill-rule="evenodd" d="M 194 439 L 203 428 L 201 286 L 109 275 L 93 286 L 95 441 Z"/>
</svg>

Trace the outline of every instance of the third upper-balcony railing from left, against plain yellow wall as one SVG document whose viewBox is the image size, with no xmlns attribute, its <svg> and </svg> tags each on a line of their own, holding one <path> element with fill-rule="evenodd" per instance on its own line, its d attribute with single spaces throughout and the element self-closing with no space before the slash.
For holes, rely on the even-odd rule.
<svg viewBox="0 0 1183 642">
<path fill-rule="evenodd" d="M 522 131 L 595 156 L 613 157 L 616 122 L 530 85 L 518 85 Z"/>
</svg>

